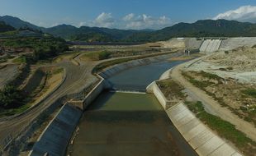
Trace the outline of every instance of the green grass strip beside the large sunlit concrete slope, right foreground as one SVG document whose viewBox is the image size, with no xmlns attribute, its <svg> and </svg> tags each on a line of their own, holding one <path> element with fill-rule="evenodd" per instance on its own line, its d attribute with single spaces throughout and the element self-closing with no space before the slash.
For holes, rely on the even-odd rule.
<svg viewBox="0 0 256 156">
<path fill-rule="evenodd" d="M 255 154 L 256 142 L 248 138 L 243 132 L 238 131 L 235 125 L 206 112 L 202 103 L 199 101 L 197 103 L 185 103 L 187 104 L 187 108 L 194 112 L 211 130 L 216 131 L 220 137 L 233 142 L 245 155 Z"/>
</svg>

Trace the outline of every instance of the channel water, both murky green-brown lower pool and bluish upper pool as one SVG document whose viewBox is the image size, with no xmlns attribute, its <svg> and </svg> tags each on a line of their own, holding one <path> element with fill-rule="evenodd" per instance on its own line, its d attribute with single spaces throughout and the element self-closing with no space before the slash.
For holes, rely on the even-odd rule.
<svg viewBox="0 0 256 156">
<path fill-rule="evenodd" d="M 145 89 L 181 62 L 133 67 L 109 80 L 116 87 Z M 72 155 L 197 155 L 179 134 L 154 94 L 103 92 L 84 112 Z"/>
</svg>

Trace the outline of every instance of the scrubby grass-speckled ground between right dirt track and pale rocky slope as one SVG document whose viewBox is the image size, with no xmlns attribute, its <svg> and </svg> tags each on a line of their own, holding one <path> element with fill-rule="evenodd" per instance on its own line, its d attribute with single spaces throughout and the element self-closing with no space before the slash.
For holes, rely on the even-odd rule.
<svg viewBox="0 0 256 156">
<path fill-rule="evenodd" d="M 204 90 L 222 107 L 229 108 L 238 117 L 256 126 L 256 85 L 241 84 L 236 80 L 223 79 L 204 71 L 184 71 L 183 76 Z"/>
</svg>

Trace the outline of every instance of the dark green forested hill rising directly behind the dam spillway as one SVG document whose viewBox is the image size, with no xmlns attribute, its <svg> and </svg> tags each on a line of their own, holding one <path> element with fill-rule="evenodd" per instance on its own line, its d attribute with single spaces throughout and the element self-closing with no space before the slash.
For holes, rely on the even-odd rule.
<svg viewBox="0 0 256 156">
<path fill-rule="evenodd" d="M 157 41 L 174 37 L 253 37 L 256 36 L 256 24 L 227 21 L 202 20 L 195 23 L 178 23 L 163 30 L 149 33 L 131 34 L 127 41 Z"/>
</svg>

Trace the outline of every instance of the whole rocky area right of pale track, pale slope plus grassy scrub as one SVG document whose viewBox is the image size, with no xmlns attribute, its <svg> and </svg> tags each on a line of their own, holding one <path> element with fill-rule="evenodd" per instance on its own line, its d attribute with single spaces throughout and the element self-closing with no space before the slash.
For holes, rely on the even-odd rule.
<svg viewBox="0 0 256 156">
<path fill-rule="evenodd" d="M 192 85 L 256 126 L 256 49 L 236 48 L 202 57 L 183 71 Z"/>
</svg>

